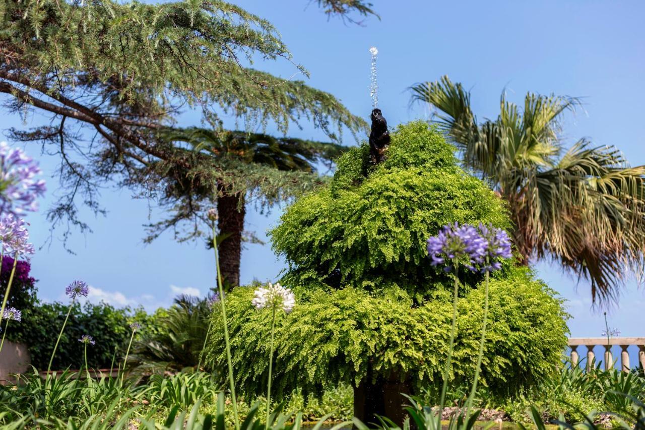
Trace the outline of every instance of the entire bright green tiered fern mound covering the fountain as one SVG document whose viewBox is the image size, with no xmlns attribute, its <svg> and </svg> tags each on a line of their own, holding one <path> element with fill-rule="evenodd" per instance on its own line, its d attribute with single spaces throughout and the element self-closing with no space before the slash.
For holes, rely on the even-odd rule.
<svg viewBox="0 0 645 430">
<path fill-rule="evenodd" d="M 277 323 L 276 391 L 317 392 L 391 375 L 441 384 L 452 317 L 452 279 L 432 267 L 426 240 L 448 223 L 508 228 L 504 203 L 457 166 L 455 148 L 426 123 L 392 134 L 387 159 L 373 167 L 368 146 L 337 164 L 328 187 L 297 200 L 272 230 L 288 262 L 281 283 L 297 305 Z M 481 274 L 460 273 L 454 384 L 471 378 L 481 333 Z M 253 288 L 226 296 L 237 383 L 261 393 L 268 375 L 269 312 L 251 305 Z M 566 313 L 553 291 L 517 261 L 490 283 L 490 324 L 482 383 L 513 393 L 552 373 L 566 347 Z M 221 316 L 209 356 L 224 366 Z M 280 394 L 278 394 L 280 395 Z"/>
</svg>

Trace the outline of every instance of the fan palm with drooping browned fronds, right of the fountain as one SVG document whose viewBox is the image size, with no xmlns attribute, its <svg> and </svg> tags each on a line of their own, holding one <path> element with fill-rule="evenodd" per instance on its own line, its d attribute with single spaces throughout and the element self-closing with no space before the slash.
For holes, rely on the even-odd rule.
<svg viewBox="0 0 645 430">
<path fill-rule="evenodd" d="M 645 167 L 630 167 L 615 147 L 586 139 L 564 146 L 560 120 L 579 99 L 528 93 L 521 111 L 502 93 L 497 119 L 479 122 L 470 92 L 447 76 L 412 92 L 413 101 L 437 108 L 435 123 L 464 167 L 508 201 L 523 263 L 559 261 L 591 282 L 593 303 L 615 299 L 628 272 L 642 274 Z"/>
</svg>

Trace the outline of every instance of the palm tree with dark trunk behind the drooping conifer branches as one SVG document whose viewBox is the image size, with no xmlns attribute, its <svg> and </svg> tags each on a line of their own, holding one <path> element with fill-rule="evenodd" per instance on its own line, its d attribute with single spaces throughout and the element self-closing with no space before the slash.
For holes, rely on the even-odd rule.
<svg viewBox="0 0 645 430">
<path fill-rule="evenodd" d="M 332 168 L 332 160 L 344 147 L 266 134 L 221 131 L 206 128 L 171 128 L 160 132 L 164 141 L 187 143 L 192 154 L 208 157 L 212 187 L 181 184 L 177 189 L 192 200 L 216 201 L 219 256 L 224 282 L 239 285 L 239 268 L 244 239 L 245 206 L 259 201 L 264 207 L 290 200 L 324 183 L 316 165 Z M 177 181 L 191 181 L 194 172 L 176 175 Z M 203 182 L 203 179 L 195 183 Z M 212 241 L 209 241 L 212 243 Z"/>
</svg>

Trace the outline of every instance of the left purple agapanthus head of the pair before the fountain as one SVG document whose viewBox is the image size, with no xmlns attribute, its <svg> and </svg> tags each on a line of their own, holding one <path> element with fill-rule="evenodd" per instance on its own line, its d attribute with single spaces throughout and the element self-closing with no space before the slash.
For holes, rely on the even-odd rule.
<svg viewBox="0 0 645 430">
<path fill-rule="evenodd" d="M 454 223 L 444 226 L 437 236 L 428 239 L 428 254 L 433 266 L 446 264 L 445 271 L 452 270 L 450 263 L 460 258 L 466 260 L 466 267 L 475 270 L 474 265 L 484 261 L 487 246 L 475 227 Z"/>
</svg>

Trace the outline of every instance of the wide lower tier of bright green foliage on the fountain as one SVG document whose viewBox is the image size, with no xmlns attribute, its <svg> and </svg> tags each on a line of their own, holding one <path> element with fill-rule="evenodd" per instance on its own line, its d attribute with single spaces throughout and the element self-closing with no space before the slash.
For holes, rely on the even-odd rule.
<svg viewBox="0 0 645 430">
<path fill-rule="evenodd" d="M 301 289 L 297 289 L 301 297 Z M 268 374 L 270 314 L 251 305 L 250 288 L 227 296 L 232 327 L 235 376 L 247 393 L 259 393 Z M 453 378 L 472 376 L 481 330 L 483 292 L 468 289 L 459 300 Z M 566 347 L 561 303 L 526 269 L 512 269 L 490 285 L 490 331 L 484 349 L 482 378 L 497 393 L 515 391 L 550 374 Z M 441 378 L 448 354 L 452 317 L 450 296 L 412 307 L 412 300 L 374 296 L 346 287 L 310 291 L 277 324 L 273 385 L 279 391 L 303 387 L 318 391 L 337 381 L 359 382 L 368 365 L 379 373 L 410 372 L 419 385 Z M 213 323 L 212 348 L 217 363 L 224 353 L 221 321 Z M 252 359 L 249 359 L 252 357 Z"/>
</svg>

